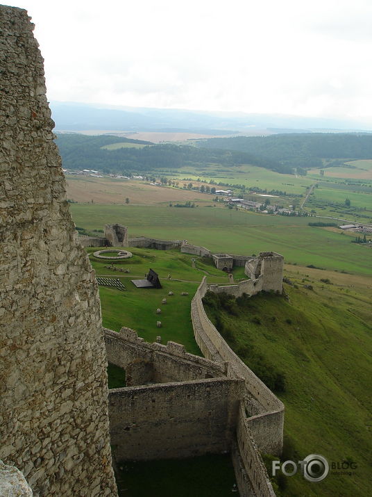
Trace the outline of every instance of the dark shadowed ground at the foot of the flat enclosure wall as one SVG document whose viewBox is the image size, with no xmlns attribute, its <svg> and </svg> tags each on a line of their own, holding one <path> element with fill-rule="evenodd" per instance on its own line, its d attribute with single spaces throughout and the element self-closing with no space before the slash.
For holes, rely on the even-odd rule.
<svg viewBox="0 0 372 497">
<path fill-rule="evenodd" d="M 232 493 L 235 474 L 228 454 L 117 466 L 120 497 L 239 497 Z"/>
</svg>

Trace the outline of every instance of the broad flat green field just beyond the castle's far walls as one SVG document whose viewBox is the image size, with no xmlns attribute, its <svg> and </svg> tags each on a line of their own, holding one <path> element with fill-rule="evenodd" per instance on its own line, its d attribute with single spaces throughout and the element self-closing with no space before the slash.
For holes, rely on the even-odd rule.
<svg viewBox="0 0 372 497">
<path fill-rule="evenodd" d="M 187 239 L 212 252 L 257 254 L 274 250 L 303 266 L 371 274 L 369 248 L 350 243 L 341 232 L 309 227 L 310 218 L 287 218 L 213 207 L 176 209 L 162 206 L 71 204 L 79 227 L 101 229 L 119 222 L 130 236 Z M 316 218 L 316 220 L 319 220 Z"/>
</svg>

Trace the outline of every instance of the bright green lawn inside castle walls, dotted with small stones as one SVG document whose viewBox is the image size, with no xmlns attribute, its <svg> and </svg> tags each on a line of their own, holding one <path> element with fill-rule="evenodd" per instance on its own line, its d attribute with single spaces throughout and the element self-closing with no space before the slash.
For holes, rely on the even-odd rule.
<svg viewBox="0 0 372 497">
<path fill-rule="evenodd" d="M 88 249 L 94 252 L 96 249 Z M 205 271 L 210 280 L 216 283 L 227 283 L 228 277 L 221 271 L 203 261 L 197 262 L 198 270 L 192 268 L 192 256 L 180 254 L 176 251 L 132 249 L 133 258 L 113 263 L 117 268 L 129 268 L 130 275 L 114 271 L 105 266 L 110 262 L 95 259 L 90 256 L 96 275 L 115 276 L 121 279 L 126 286 L 126 291 L 100 286 L 103 326 L 115 331 L 123 326 L 137 330 L 138 334 L 146 341 L 153 342 L 156 336 L 162 336 L 162 343 L 172 340 L 183 343 L 188 352 L 200 355 L 194 341 L 192 323 L 190 318 L 190 302 L 198 284 L 201 282 Z M 162 289 L 136 288 L 130 279 L 143 279 L 144 274 L 152 268 L 160 276 Z M 171 280 L 167 279 L 171 275 Z M 175 281 L 187 279 L 188 282 Z M 169 296 L 168 292 L 174 295 Z M 189 295 L 180 295 L 187 292 Z M 167 299 L 167 304 L 162 304 L 162 299 Z M 158 307 L 162 313 L 155 313 Z M 156 322 L 160 320 L 162 327 L 158 328 Z"/>
</svg>

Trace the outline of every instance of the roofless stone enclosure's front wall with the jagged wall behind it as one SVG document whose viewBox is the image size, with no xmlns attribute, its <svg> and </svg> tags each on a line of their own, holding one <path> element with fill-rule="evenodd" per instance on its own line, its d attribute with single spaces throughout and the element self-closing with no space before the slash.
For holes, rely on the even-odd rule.
<svg viewBox="0 0 372 497">
<path fill-rule="evenodd" d="M 145 343 L 128 328 L 105 330 L 105 343 L 109 361 L 126 369 L 131 385 L 110 390 L 118 460 L 230 450 L 244 382 L 228 377 L 227 364 L 188 354 L 178 343 Z"/>
</svg>

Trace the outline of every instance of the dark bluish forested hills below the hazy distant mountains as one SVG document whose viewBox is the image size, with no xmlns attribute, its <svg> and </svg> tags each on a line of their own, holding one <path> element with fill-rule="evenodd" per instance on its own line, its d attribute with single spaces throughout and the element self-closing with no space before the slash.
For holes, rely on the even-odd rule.
<svg viewBox="0 0 372 497">
<path fill-rule="evenodd" d="M 106 145 L 128 146 L 103 148 Z M 130 146 L 133 145 L 133 147 Z M 372 158 L 372 135 L 304 133 L 264 137 L 211 138 L 196 145 L 154 145 L 117 136 L 58 134 L 63 167 L 71 170 L 131 174 L 183 166 L 205 168 L 242 164 L 287 174 L 306 174 L 307 168 L 340 165 L 345 160 Z M 137 147 L 136 147 L 137 146 Z M 322 159 L 328 159 L 323 163 Z"/>
</svg>

